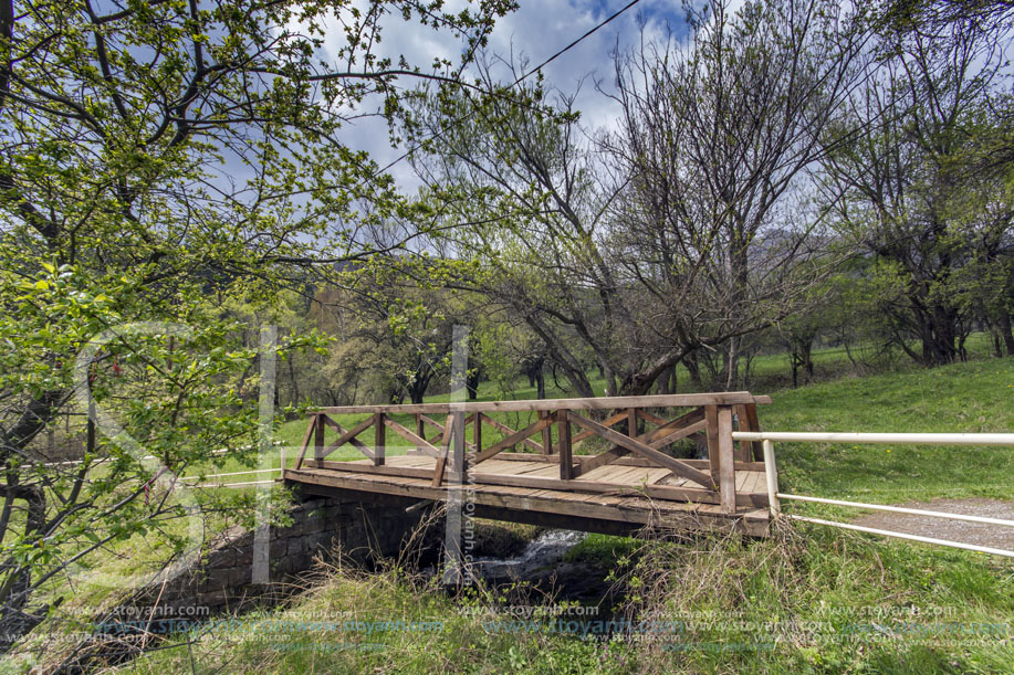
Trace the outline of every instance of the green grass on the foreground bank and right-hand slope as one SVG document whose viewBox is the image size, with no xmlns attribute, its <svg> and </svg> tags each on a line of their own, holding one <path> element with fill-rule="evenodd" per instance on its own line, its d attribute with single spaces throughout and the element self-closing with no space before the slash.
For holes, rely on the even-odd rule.
<svg viewBox="0 0 1014 675">
<path fill-rule="evenodd" d="M 761 410 L 762 426 L 771 430 L 1014 429 L 1014 359 L 771 393 L 773 404 Z M 783 488 L 803 494 L 887 503 L 1014 499 L 1014 450 L 780 444 L 776 451 Z M 615 570 L 627 590 L 621 607 L 604 608 L 616 610 L 614 620 L 633 621 L 615 623 L 611 640 L 596 634 L 604 624 L 594 616 L 573 615 L 567 607 L 518 621 L 505 602 L 535 612 L 554 608 L 535 593 L 525 599 L 523 589 L 451 595 L 398 568 L 374 574 L 332 569 L 286 610 L 244 616 L 228 630 L 195 631 L 190 644 L 121 669 L 1014 672 L 1014 567 L 1000 559 L 818 526 L 785 528 L 763 541 L 593 536 L 569 559 Z"/>
</svg>

